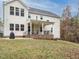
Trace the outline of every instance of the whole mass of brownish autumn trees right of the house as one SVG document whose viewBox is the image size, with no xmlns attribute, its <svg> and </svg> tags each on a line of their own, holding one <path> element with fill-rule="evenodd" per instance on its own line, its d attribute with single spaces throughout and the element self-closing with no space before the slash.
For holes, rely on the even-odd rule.
<svg viewBox="0 0 79 59">
<path fill-rule="evenodd" d="M 61 38 L 79 42 L 79 8 L 76 16 L 71 17 L 70 15 L 70 9 L 66 7 L 62 16 L 64 20 L 61 22 Z"/>
</svg>

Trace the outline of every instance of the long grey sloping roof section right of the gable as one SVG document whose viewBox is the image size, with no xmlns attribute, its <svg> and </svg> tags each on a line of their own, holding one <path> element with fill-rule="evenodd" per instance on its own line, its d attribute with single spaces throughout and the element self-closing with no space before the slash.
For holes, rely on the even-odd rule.
<svg viewBox="0 0 79 59">
<path fill-rule="evenodd" d="M 41 10 L 41 9 L 32 8 L 32 7 L 29 8 L 29 13 L 39 14 L 39 15 L 44 15 L 44 16 L 49 16 L 49 17 L 60 18 L 55 13 L 52 13 L 52 12 L 49 12 L 49 11 L 45 11 L 45 10 Z"/>
</svg>

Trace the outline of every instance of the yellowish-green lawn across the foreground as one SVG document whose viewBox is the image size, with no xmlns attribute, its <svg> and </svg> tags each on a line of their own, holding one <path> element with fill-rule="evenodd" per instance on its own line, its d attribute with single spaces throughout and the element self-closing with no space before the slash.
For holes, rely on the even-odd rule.
<svg viewBox="0 0 79 59">
<path fill-rule="evenodd" d="M 0 59 L 79 59 L 79 44 L 61 40 L 0 40 Z"/>
</svg>

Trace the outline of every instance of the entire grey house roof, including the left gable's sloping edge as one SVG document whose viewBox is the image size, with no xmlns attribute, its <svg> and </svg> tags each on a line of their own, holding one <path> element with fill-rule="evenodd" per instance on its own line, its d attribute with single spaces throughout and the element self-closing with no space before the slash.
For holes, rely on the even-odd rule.
<svg viewBox="0 0 79 59">
<path fill-rule="evenodd" d="M 9 3 L 12 3 L 14 1 L 19 1 L 24 7 L 28 8 L 21 0 L 12 0 L 12 1 L 9 1 L 9 2 L 7 2 L 5 4 L 9 4 Z M 32 7 L 29 7 L 28 8 L 28 11 L 29 11 L 29 13 L 33 13 L 33 14 L 38 14 L 38 15 L 43 15 L 43 16 L 60 18 L 55 13 L 52 13 L 52 12 L 49 12 L 49 11 L 45 11 L 45 10 L 41 10 L 41 9 L 32 8 Z"/>
</svg>

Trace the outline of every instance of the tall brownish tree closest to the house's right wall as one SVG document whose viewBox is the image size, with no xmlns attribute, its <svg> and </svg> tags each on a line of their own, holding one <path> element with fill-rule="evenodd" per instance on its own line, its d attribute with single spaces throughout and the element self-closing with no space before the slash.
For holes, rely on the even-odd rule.
<svg viewBox="0 0 79 59">
<path fill-rule="evenodd" d="M 63 20 L 61 21 L 61 38 L 67 40 L 68 31 L 70 29 L 70 19 L 71 19 L 71 8 L 66 6 L 62 14 Z"/>
</svg>

